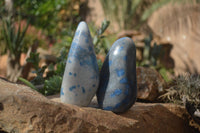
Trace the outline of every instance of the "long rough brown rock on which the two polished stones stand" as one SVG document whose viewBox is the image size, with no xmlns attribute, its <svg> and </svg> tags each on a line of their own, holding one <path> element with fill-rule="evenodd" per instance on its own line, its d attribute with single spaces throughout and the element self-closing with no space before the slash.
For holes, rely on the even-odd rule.
<svg viewBox="0 0 200 133">
<path fill-rule="evenodd" d="M 58 98 L 56 99 L 59 100 Z M 136 103 L 127 112 L 48 100 L 29 87 L 0 79 L 0 131 L 15 133 L 193 133 L 186 110 L 173 104 Z"/>
</svg>

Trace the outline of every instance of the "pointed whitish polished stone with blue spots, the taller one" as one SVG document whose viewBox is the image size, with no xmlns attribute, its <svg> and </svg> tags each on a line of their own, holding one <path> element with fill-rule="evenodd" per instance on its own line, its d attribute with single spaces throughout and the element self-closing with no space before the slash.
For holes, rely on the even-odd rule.
<svg viewBox="0 0 200 133">
<path fill-rule="evenodd" d="M 80 22 L 73 38 L 61 86 L 61 102 L 87 106 L 97 91 L 99 69 L 92 38 Z"/>
</svg>

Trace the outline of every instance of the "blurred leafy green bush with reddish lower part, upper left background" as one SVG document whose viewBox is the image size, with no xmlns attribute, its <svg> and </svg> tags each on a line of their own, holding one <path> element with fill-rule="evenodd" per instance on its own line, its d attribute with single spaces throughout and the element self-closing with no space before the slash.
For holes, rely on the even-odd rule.
<svg viewBox="0 0 200 133">
<path fill-rule="evenodd" d="M 24 38 L 24 43 L 29 46 L 35 40 L 43 48 L 47 48 L 48 43 L 65 41 L 63 36 L 68 36 L 69 32 L 74 31 L 81 19 L 80 0 L 12 0 L 12 2 L 13 21 L 17 22 L 20 19 L 30 22 Z M 0 1 L 0 18 L 7 14 L 5 1 L 2 0 Z M 0 40 L 3 40 L 2 35 L 0 35 Z"/>
</svg>

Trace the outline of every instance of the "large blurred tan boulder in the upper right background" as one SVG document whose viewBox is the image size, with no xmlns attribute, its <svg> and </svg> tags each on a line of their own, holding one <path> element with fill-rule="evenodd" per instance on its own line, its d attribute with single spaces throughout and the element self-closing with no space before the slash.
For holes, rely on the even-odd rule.
<svg viewBox="0 0 200 133">
<path fill-rule="evenodd" d="M 175 74 L 200 74 L 200 5 L 166 5 L 155 11 L 148 25 L 159 37 L 173 44 Z"/>
</svg>

